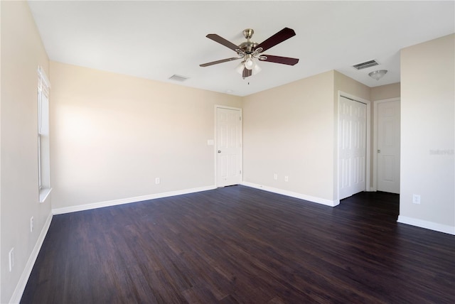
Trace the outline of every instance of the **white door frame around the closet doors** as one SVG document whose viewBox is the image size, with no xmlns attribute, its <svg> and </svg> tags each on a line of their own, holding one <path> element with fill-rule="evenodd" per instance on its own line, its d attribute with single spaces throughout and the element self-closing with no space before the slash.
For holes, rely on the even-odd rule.
<svg viewBox="0 0 455 304">
<path fill-rule="evenodd" d="M 366 114 L 366 161 L 365 161 L 365 190 L 370 191 L 370 167 L 371 167 L 371 102 L 370 100 L 363 99 L 352 94 L 348 94 L 343 91 L 338 91 L 338 104 L 336 107 L 336 124 L 335 124 L 335 143 L 336 143 L 336 160 L 335 160 L 335 185 L 336 185 L 336 197 L 333 205 L 338 205 L 340 203 L 340 175 L 339 175 L 339 164 L 340 164 L 340 139 L 339 139 L 339 127 L 340 127 L 340 97 L 346 97 L 348 99 L 353 99 L 356 102 L 362 102 L 367 105 L 367 114 Z"/>
</svg>

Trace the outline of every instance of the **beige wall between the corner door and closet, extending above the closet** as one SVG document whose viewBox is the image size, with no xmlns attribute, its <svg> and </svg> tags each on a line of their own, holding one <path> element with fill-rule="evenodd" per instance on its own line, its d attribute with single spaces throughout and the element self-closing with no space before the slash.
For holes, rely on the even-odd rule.
<svg viewBox="0 0 455 304">
<path fill-rule="evenodd" d="M 369 87 L 336 71 L 245 97 L 245 182 L 337 204 L 338 90 L 370 99 Z"/>
</svg>

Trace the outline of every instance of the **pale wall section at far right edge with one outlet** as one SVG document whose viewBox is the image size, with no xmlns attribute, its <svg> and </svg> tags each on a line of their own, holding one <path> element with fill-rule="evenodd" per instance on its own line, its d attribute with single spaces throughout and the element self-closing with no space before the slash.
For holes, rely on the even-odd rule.
<svg viewBox="0 0 455 304">
<path fill-rule="evenodd" d="M 455 35 L 401 51 L 400 222 L 455 234 Z M 419 205 L 412 195 L 420 195 Z"/>
</svg>

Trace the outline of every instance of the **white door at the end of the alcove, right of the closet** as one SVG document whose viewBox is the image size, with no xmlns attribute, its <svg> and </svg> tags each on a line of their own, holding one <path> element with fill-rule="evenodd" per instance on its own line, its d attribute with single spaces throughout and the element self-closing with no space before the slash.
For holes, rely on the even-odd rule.
<svg viewBox="0 0 455 304">
<path fill-rule="evenodd" d="M 400 100 L 378 103 L 378 191 L 400 193 Z"/>
</svg>

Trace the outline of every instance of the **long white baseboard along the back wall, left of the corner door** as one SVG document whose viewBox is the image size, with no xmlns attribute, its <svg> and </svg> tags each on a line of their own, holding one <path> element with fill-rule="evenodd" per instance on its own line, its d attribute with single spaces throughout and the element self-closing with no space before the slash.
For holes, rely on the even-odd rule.
<svg viewBox="0 0 455 304">
<path fill-rule="evenodd" d="M 105 202 L 94 202 L 92 204 L 86 204 L 86 205 L 55 208 L 52 210 L 52 213 L 53 213 L 53 215 L 63 215 L 64 213 L 84 211 L 84 210 L 90 210 L 90 209 L 96 209 L 96 208 L 102 208 L 102 207 L 110 207 L 110 206 L 115 206 L 115 205 L 123 205 L 123 204 L 129 204 L 132 202 L 141 202 L 143 200 L 154 200 L 156 198 L 170 197 L 170 196 L 174 196 L 174 195 L 183 195 L 183 194 L 201 192 L 201 191 L 206 191 L 206 190 L 213 190 L 215 188 L 216 188 L 215 185 L 211 185 L 211 186 L 205 186 L 205 187 L 200 187 L 200 188 L 191 188 L 191 189 L 184 189 L 184 190 L 161 192 L 161 193 L 156 193 L 156 194 L 151 194 L 151 195 L 128 197 L 128 198 L 122 198 L 119 200 L 107 200 Z"/>
</svg>

